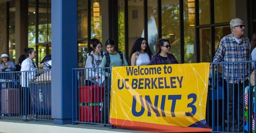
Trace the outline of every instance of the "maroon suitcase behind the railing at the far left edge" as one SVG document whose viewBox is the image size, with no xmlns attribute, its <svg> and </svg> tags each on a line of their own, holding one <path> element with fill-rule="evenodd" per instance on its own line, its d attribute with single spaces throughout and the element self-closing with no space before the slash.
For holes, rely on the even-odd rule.
<svg viewBox="0 0 256 133">
<path fill-rule="evenodd" d="M 1 114 L 15 115 L 19 113 L 19 89 L 1 90 Z"/>
</svg>

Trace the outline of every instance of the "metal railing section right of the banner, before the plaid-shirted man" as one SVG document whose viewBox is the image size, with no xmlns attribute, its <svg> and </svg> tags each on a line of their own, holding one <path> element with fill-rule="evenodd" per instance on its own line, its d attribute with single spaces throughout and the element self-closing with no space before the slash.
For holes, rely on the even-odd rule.
<svg viewBox="0 0 256 133">
<path fill-rule="evenodd" d="M 255 131 L 254 62 L 210 64 L 206 120 L 213 132 Z"/>
</svg>

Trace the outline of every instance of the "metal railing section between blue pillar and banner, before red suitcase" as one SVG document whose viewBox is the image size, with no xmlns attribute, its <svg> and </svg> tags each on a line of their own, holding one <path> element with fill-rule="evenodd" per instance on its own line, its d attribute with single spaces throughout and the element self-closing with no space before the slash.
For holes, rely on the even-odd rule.
<svg viewBox="0 0 256 133">
<path fill-rule="evenodd" d="M 110 68 L 72 70 L 73 122 L 109 125 Z"/>
</svg>

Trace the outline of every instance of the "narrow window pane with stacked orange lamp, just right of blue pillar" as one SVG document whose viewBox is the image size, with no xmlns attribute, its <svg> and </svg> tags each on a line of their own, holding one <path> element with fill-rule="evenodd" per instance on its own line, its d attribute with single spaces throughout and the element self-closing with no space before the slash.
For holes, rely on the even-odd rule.
<svg viewBox="0 0 256 133">
<path fill-rule="evenodd" d="M 91 0 L 91 38 L 97 38 L 102 41 L 102 0 Z"/>
</svg>

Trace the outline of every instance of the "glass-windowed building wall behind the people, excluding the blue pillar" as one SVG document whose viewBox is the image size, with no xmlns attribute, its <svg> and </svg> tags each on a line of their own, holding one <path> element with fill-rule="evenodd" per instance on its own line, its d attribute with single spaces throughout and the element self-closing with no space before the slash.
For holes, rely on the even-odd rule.
<svg viewBox="0 0 256 133">
<path fill-rule="evenodd" d="M 1 53 L 17 61 L 23 48 L 34 47 L 36 61 L 51 53 L 51 0 L 1 3 Z M 133 43 L 145 37 L 155 53 L 159 38 L 172 43 L 179 63 L 211 62 L 229 21 L 241 18 L 246 36 L 256 32 L 255 1 L 238 0 L 77 0 L 78 66 L 84 67 L 88 42 L 112 38 L 129 59 Z"/>
</svg>

